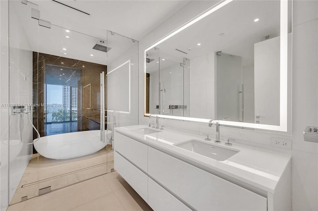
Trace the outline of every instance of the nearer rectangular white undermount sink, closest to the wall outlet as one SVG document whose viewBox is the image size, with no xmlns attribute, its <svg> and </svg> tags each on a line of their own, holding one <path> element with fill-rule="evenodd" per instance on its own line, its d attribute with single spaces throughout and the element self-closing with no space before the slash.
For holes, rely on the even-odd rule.
<svg viewBox="0 0 318 211">
<path fill-rule="evenodd" d="M 239 152 L 232 149 L 217 147 L 215 145 L 204 143 L 195 139 L 174 144 L 174 146 L 220 161 L 226 160 Z"/>
</svg>

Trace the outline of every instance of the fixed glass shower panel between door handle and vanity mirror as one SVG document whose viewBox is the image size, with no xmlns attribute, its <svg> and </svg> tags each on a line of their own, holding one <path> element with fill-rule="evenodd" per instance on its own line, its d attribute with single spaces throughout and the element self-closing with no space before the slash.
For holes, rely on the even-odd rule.
<svg viewBox="0 0 318 211">
<path fill-rule="evenodd" d="M 138 41 L 107 31 L 107 130 L 138 124 L 138 47 Z M 116 146 L 116 137 L 106 138 Z M 113 151 L 107 156 L 109 172 Z"/>
</svg>

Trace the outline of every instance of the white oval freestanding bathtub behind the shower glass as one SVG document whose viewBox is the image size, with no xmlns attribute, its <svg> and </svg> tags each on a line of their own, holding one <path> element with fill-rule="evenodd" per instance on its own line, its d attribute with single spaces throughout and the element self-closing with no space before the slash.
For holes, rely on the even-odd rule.
<svg viewBox="0 0 318 211">
<path fill-rule="evenodd" d="M 100 130 L 63 133 L 41 137 L 34 148 L 45 158 L 69 159 L 90 155 L 107 145 L 111 131 L 105 130 L 105 143 L 100 141 Z"/>
</svg>

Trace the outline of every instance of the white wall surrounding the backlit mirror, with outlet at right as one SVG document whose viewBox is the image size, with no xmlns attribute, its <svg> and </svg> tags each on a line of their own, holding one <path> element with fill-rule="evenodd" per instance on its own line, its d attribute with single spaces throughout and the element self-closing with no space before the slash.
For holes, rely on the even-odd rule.
<svg viewBox="0 0 318 211">
<path fill-rule="evenodd" d="M 173 29 L 181 26 L 195 15 L 207 9 L 214 1 L 192 1 L 174 16 L 140 41 L 140 76 L 143 76 L 143 54 Z M 294 211 L 318 210 L 318 143 L 305 142 L 303 131 L 306 126 L 318 126 L 318 1 L 294 0 L 293 5 L 293 103 L 292 135 L 242 130 L 221 127 L 221 140 L 235 138 L 238 143 L 292 155 L 292 206 Z M 139 78 L 139 123 L 148 124 L 144 117 L 144 80 Z M 195 134 L 209 132 L 215 128 L 205 124 L 159 120 L 168 128 Z M 271 137 L 292 140 L 292 150 L 270 146 Z"/>
</svg>

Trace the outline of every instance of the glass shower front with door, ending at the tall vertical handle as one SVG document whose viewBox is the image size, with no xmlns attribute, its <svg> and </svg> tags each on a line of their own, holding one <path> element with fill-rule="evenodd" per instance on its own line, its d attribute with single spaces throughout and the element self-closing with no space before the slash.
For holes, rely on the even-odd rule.
<svg viewBox="0 0 318 211">
<path fill-rule="evenodd" d="M 9 1 L 9 105 L 24 106 L 15 107 L 23 114 L 9 116 L 10 205 L 111 170 L 102 75 L 107 53 L 96 50 L 106 49 L 106 35 L 32 18 L 38 11 L 29 1 Z M 44 137 L 34 144 L 30 122 Z"/>
</svg>

